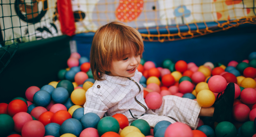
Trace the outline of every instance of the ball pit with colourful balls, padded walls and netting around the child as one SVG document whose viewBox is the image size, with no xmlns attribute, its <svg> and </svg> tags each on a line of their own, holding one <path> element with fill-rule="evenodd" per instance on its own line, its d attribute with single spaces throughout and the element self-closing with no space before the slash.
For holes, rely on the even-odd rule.
<svg viewBox="0 0 256 137">
<path fill-rule="evenodd" d="M 1 0 L 0 137 L 256 137 L 255 0 Z M 150 109 L 174 95 L 214 106 L 235 83 L 231 122 L 84 114 L 98 27 L 118 21 L 144 41 L 138 71 Z M 152 92 L 153 91 L 153 92 Z M 218 96 L 218 94 L 220 94 Z"/>
</svg>

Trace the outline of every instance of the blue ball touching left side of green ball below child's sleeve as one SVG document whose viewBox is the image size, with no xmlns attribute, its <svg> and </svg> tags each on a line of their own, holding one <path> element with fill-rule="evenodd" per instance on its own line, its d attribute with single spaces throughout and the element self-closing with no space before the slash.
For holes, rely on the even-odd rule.
<svg viewBox="0 0 256 137">
<path fill-rule="evenodd" d="M 91 112 L 84 114 L 80 119 L 83 129 L 86 129 L 88 127 L 93 127 L 97 129 L 99 121 L 100 121 L 100 117 L 97 114 L 91 113 Z"/>
</svg>

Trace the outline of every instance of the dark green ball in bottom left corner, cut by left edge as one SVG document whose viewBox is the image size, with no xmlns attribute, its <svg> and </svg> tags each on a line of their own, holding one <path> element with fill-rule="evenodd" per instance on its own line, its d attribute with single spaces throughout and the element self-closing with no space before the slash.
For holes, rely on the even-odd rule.
<svg viewBox="0 0 256 137">
<path fill-rule="evenodd" d="M 11 133 L 14 129 L 14 120 L 10 115 L 0 114 L 0 136 Z"/>
</svg>

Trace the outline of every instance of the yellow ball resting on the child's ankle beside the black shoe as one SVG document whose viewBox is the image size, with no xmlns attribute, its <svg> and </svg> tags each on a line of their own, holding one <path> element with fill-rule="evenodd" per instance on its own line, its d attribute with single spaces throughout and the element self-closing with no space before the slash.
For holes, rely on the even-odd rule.
<svg viewBox="0 0 256 137">
<path fill-rule="evenodd" d="M 215 96 L 212 91 L 204 89 L 197 93 L 197 102 L 202 107 L 210 107 L 215 102 Z"/>
</svg>

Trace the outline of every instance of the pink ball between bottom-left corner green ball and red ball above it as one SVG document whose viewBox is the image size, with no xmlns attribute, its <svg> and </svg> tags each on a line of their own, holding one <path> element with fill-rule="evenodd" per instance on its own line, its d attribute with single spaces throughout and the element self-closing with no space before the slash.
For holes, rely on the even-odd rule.
<svg viewBox="0 0 256 137">
<path fill-rule="evenodd" d="M 33 120 L 30 114 L 26 112 L 20 112 L 12 117 L 14 120 L 14 130 L 17 132 L 21 132 L 22 127 L 28 122 Z"/>
</svg>

